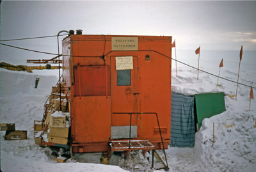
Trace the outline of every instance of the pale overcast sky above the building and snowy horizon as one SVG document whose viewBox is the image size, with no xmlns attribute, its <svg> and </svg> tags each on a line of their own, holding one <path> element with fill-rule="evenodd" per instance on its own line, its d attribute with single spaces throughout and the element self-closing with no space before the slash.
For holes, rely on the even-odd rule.
<svg viewBox="0 0 256 172">
<path fill-rule="evenodd" d="M 173 36 L 177 49 L 256 50 L 255 1 L 2 1 L 1 40 L 57 35 Z M 58 52 L 56 38 L 2 42 Z M 1 56 L 14 53 L 1 45 Z M 20 52 L 20 51 L 19 51 Z M 28 54 L 30 56 L 30 54 Z M 35 56 L 35 54 L 33 54 Z"/>
</svg>

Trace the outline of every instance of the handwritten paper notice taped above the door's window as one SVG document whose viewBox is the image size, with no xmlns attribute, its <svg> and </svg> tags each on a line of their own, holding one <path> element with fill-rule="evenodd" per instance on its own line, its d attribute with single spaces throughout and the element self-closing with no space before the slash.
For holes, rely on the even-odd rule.
<svg viewBox="0 0 256 172">
<path fill-rule="evenodd" d="M 116 57 L 116 70 L 133 69 L 132 56 Z"/>
</svg>

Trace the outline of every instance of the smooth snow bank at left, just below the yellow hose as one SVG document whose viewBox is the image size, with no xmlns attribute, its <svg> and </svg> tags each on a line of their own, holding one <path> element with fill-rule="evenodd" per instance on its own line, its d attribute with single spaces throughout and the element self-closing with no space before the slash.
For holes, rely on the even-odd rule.
<svg viewBox="0 0 256 172">
<path fill-rule="evenodd" d="M 39 78 L 35 88 L 36 78 Z M 0 68 L 0 96 L 28 94 L 33 96 L 49 95 L 52 86 L 58 82 L 58 70 L 33 70 L 33 73 L 17 72 Z"/>
</svg>

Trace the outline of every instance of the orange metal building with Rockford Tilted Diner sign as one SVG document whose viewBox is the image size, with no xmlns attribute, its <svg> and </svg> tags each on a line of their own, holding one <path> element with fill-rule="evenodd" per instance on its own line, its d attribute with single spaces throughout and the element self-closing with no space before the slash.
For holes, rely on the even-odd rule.
<svg viewBox="0 0 256 172">
<path fill-rule="evenodd" d="M 108 152 L 111 141 L 170 143 L 172 36 L 70 35 L 63 79 L 70 88 L 74 153 Z M 168 58 L 169 57 L 169 58 Z M 135 113 L 135 114 L 116 114 Z"/>
</svg>

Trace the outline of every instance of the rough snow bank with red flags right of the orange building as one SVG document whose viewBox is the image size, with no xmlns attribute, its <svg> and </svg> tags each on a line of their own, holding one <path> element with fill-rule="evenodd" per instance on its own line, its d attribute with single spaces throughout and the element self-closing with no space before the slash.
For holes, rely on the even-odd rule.
<svg viewBox="0 0 256 172">
<path fill-rule="evenodd" d="M 255 63 L 255 53 L 247 52 L 244 55 L 243 66 L 241 65 L 241 75 L 239 82 L 256 86 L 256 69 L 252 63 Z M 231 53 L 234 55 L 234 52 Z M 238 52 L 237 52 L 238 54 Z M 206 55 L 206 54 L 205 54 Z M 249 56 L 250 55 L 250 56 Z M 212 63 L 220 62 L 216 59 L 204 57 L 201 67 L 207 72 L 214 74 L 214 69 L 210 66 Z M 181 59 L 182 61 L 192 61 L 193 59 Z M 220 59 L 221 60 L 221 59 Z M 237 81 L 238 69 L 237 58 L 229 55 L 223 58 L 224 67 L 221 68 L 221 76 L 232 81 Z M 205 63 L 207 62 L 207 63 Z M 205 63 L 205 64 L 204 64 Z M 178 63 L 179 64 L 179 63 Z M 175 69 L 172 70 L 172 91 L 184 95 L 195 95 L 197 93 L 224 92 L 227 95 L 236 95 L 236 83 L 219 80 L 221 86 L 216 87 L 217 78 L 203 72 L 199 72 L 199 80 L 196 79 L 197 71 L 184 65 L 178 65 L 178 77 L 175 76 Z M 194 64 L 195 66 L 195 64 Z M 216 72 L 218 67 L 216 67 Z M 253 90 L 255 91 L 255 90 Z M 202 122 L 199 132 L 196 132 L 195 148 L 187 148 L 188 152 L 180 153 L 184 149 L 170 148 L 167 152 L 168 160 L 173 165 L 173 171 L 255 171 L 256 168 L 256 128 L 253 127 L 256 119 L 255 100 L 252 100 L 251 111 L 249 109 L 250 88 L 238 86 L 237 100 L 225 96 L 226 111 L 206 118 Z M 255 94 L 255 93 L 254 93 Z M 213 123 L 214 123 L 214 143 L 213 141 Z M 233 125 L 234 124 L 234 125 Z M 228 126 L 229 125 L 229 126 Z M 227 126 L 227 127 L 226 127 Z M 179 150 L 179 153 L 177 153 Z M 173 153 L 176 152 L 176 153 Z M 173 160 L 174 157 L 174 160 Z M 175 158 L 187 159 L 179 160 Z M 174 162 L 173 162 L 174 161 Z M 178 161 L 178 166 L 177 163 Z M 184 164 L 179 162 L 184 162 Z"/>
</svg>

